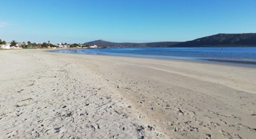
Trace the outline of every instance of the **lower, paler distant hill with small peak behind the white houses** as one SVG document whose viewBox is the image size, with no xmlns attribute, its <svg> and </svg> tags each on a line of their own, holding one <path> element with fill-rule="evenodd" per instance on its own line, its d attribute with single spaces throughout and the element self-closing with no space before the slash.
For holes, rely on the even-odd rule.
<svg viewBox="0 0 256 139">
<path fill-rule="evenodd" d="M 97 45 L 101 47 L 166 47 L 180 42 L 155 42 L 155 43 L 113 43 L 105 40 L 95 40 L 84 45 Z"/>
</svg>

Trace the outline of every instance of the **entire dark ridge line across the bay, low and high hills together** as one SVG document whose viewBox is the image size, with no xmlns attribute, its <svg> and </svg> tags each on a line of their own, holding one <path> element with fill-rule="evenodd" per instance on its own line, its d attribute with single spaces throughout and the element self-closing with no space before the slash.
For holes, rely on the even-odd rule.
<svg viewBox="0 0 256 139">
<path fill-rule="evenodd" d="M 204 47 L 204 46 L 256 46 L 256 33 L 219 33 L 185 42 L 114 43 L 95 40 L 84 45 L 101 47 Z"/>
</svg>

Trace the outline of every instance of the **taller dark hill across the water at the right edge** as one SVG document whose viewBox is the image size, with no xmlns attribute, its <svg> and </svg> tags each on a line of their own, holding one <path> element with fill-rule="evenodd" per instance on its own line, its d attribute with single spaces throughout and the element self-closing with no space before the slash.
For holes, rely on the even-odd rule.
<svg viewBox="0 0 256 139">
<path fill-rule="evenodd" d="M 208 37 L 197 38 L 169 47 L 186 46 L 256 46 L 256 33 L 242 34 L 216 34 Z"/>
</svg>

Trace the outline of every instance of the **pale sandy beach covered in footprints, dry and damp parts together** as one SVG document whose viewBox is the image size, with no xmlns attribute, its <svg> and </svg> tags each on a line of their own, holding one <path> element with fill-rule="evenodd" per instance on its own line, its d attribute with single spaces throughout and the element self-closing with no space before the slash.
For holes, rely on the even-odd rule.
<svg viewBox="0 0 256 139">
<path fill-rule="evenodd" d="M 256 68 L 0 51 L 0 139 L 255 139 Z"/>
</svg>

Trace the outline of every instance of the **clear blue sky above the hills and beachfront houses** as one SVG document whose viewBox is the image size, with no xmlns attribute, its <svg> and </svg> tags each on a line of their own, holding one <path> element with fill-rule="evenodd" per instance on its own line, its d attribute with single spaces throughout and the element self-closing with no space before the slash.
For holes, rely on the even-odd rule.
<svg viewBox="0 0 256 139">
<path fill-rule="evenodd" d="M 0 5 L 0 38 L 6 41 L 187 41 L 256 32 L 256 0 L 0 0 Z"/>
</svg>

